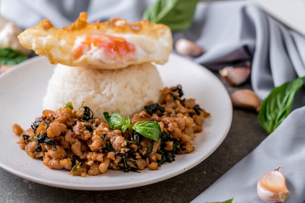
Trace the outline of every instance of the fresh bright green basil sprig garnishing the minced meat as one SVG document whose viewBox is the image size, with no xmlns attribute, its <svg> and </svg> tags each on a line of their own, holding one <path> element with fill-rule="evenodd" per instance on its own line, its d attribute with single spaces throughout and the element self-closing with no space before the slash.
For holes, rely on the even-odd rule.
<svg viewBox="0 0 305 203">
<path fill-rule="evenodd" d="M 140 135 L 143 135 L 152 140 L 159 140 L 161 136 L 161 127 L 159 123 L 153 121 L 139 121 L 134 125 L 130 123 L 129 117 L 124 118 L 118 113 L 114 113 L 113 115 L 109 115 L 108 112 L 104 112 L 104 117 L 106 121 L 110 124 L 110 128 L 112 129 L 121 129 L 124 133 L 127 129 L 134 130 Z"/>
</svg>

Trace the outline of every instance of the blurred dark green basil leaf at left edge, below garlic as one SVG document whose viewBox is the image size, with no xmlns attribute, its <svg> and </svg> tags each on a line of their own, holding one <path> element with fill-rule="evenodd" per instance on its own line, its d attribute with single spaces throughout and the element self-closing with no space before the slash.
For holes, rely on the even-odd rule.
<svg viewBox="0 0 305 203">
<path fill-rule="evenodd" d="M 0 65 L 15 65 L 28 58 L 24 53 L 8 47 L 0 49 Z"/>
</svg>

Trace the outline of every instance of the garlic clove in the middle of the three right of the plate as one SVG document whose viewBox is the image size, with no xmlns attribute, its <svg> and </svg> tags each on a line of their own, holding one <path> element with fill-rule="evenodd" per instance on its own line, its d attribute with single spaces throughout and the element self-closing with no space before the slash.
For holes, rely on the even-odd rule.
<svg viewBox="0 0 305 203">
<path fill-rule="evenodd" d="M 230 85 L 241 85 L 245 83 L 251 73 L 250 65 L 247 67 L 225 67 L 221 70 L 219 70 L 219 74 L 221 77 L 227 81 Z"/>
</svg>

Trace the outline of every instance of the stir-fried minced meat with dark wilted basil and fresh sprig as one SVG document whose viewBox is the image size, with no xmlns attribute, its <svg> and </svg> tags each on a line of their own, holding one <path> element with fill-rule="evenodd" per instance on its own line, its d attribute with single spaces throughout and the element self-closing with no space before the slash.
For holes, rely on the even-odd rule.
<svg viewBox="0 0 305 203">
<path fill-rule="evenodd" d="M 73 110 L 70 102 L 57 111 L 44 110 L 31 128 L 18 124 L 18 144 L 32 158 L 43 159 L 51 169 L 68 169 L 85 177 L 106 173 L 157 170 L 174 161 L 175 154 L 193 152 L 194 133 L 202 131 L 209 116 L 193 99 L 181 99 L 181 86 L 164 88 L 159 103 L 149 103 L 133 117 L 104 113 L 95 118 L 90 108 Z"/>
</svg>

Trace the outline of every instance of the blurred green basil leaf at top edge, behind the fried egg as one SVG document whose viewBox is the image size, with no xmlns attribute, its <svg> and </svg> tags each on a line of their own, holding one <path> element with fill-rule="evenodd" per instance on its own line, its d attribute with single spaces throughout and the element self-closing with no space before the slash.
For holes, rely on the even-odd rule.
<svg viewBox="0 0 305 203">
<path fill-rule="evenodd" d="M 190 27 L 199 0 L 158 0 L 146 9 L 143 19 L 163 23 L 172 31 Z"/>
</svg>

